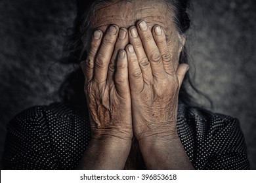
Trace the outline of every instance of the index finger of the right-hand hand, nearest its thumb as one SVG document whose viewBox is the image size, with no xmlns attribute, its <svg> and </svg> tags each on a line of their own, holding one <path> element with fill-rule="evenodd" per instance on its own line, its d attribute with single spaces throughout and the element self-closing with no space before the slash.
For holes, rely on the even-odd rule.
<svg viewBox="0 0 256 183">
<path fill-rule="evenodd" d="M 163 32 L 163 29 L 160 27 L 160 25 L 156 25 L 153 27 L 152 34 L 156 42 L 156 45 L 160 50 L 161 59 L 163 61 L 163 67 L 165 69 L 165 72 L 169 75 L 174 75 L 175 69 L 173 61 L 171 59 L 171 53 L 167 46 L 166 37 L 165 33 Z"/>
</svg>

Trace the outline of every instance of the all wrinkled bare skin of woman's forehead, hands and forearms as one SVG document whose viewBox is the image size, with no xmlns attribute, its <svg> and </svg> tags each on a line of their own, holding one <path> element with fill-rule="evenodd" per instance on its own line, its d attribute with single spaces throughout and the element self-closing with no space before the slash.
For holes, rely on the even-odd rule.
<svg viewBox="0 0 256 183">
<path fill-rule="evenodd" d="M 165 4 L 146 2 L 100 7 L 92 20 L 96 31 L 81 67 L 93 141 L 81 169 L 123 169 L 133 134 L 147 168 L 156 169 L 165 159 L 157 168 L 191 168 L 176 127 L 179 89 L 188 70 L 179 65 L 184 37 Z M 150 161 L 148 152 L 159 161 Z M 182 162 L 173 163 L 179 156 Z M 86 165 L 91 161 L 96 163 Z"/>
</svg>

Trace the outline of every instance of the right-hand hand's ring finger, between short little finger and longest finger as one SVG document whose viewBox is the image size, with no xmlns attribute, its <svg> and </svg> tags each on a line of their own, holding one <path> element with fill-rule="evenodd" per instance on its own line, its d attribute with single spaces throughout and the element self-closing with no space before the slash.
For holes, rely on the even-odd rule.
<svg viewBox="0 0 256 183">
<path fill-rule="evenodd" d="M 144 51 L 142 42 L 137 31 L 137 27 L 135 26 L 129 28 L 129 41 L 133 45 L 133 48 L 135 49 L 135 53 L 137 55 L 140 69 L 142 72 L 143 80 L 145 82 L 152 81 L 152 70 L 150 67 L 150 62 L 148 61 L 148 57 L 146 56 L 146 53 Z"/>
</svg>

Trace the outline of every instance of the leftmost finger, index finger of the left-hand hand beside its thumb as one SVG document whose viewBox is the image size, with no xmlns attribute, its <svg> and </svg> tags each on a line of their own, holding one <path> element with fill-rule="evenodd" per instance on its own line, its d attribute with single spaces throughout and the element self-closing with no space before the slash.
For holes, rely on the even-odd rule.
<svg viewBox="0 0 256 183">
<path fill-rule="evenodd" d="M 100 46 L 100 42 L 102 39 L 102 31 L 96 30 L 93 33 L 93 38 L 91 41 L 91 48 L 89 50 L 88 57 L 85 61 L 80 63 L 80 67 L 82 68 L 83 75 L 85 75 L 85 82 L 88 83 L 93 78 L 93 67 L 95 62 L 95 56 L 98 52 L 98 48 Z"/>
</svg>

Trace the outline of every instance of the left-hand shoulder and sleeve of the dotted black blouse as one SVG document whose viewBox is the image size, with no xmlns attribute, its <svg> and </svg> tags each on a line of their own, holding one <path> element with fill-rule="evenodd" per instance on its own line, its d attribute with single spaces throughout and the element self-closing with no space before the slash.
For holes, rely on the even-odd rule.
<svg viewBox="0 0 256 183">
<path fill-rule="evenodd" d="M 30 107 L 7 128 L 5 169 L 74 169 L 90 139 L 89 120 L 64 103 Z"/>
</svg>

